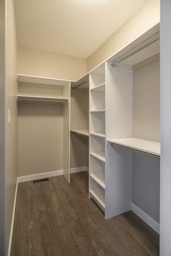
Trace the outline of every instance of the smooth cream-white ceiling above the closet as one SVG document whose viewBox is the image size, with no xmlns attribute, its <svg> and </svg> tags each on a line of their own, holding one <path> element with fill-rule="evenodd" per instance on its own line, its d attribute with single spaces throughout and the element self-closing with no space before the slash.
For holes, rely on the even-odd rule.
<svg viewBox="0 0 171 256">
<path fill-rule="evenodd" d="M 20 46 L 87 58 L 146 0 L 15 0 Z"/>
</svg>

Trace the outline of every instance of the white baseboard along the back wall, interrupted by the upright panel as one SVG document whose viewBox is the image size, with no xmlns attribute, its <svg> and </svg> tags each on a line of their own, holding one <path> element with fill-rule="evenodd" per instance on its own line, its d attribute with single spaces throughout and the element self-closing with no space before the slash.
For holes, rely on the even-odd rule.
<svg viewBox="0 0 171 256">
<path fill-rule="evenodd" d="M 80 173 L 83 171 L 88 171 L 87 166 L 70 168 L 70 173 Z M 61 176 L 61 175 L 63 175 L 63 170 L 53 170 L 51 172 L 46 172 L 46 173 L 37 173 L 33 175 L 28 175 L 28 176 L 20 176 L 18 177 L 18 183 L 25 182 L 25 181 L 36 181 L 41 178 L 50 178 L 50 177 Z"/>
</svg>

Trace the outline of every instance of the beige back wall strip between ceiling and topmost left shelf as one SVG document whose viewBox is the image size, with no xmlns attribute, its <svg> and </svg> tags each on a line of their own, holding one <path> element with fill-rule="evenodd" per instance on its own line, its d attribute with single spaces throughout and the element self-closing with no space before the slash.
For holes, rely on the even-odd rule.
<svg viewBox="0 0 171 256">
<path fill-rule="evenodd" d="M 78 80 L 86 73 L 86 59 L 19 47 L 18 73 Z"/>
</svg>

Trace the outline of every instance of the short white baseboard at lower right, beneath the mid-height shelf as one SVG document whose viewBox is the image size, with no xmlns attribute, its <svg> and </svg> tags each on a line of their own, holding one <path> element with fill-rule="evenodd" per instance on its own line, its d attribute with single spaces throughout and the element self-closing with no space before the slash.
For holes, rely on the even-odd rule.
<svg viewBox="0 0 171 256">
<path fill-rule="evenodd" d="M 154 229 L 159 234 L 159 223 L 157 223 L 156 220 L 151 218 L 149 215 L 146 214 L 146 212 L 143 212 L 139 207 L 131 203 L 131 210 L 135 213 L 135 215 L 138 215 L 141 220 L 143 220 L 147 225 L 149 225 L 151 228 Z"/>
</svg>

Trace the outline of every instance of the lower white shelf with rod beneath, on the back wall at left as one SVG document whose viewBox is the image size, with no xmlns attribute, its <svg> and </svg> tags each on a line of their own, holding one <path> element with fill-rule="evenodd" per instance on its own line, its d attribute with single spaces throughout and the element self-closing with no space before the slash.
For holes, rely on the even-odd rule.
<svg viewBox="0 0 171 256">
<path fill-rule="evenodd" d="M 17 102 L 23 102 L 23 101 L 64 103 L 64 102 L 68 102 L 69 98 L 64 98 L 62 96 L 49 97 L 49 96 L 17 95 Z"/>
</svg>

